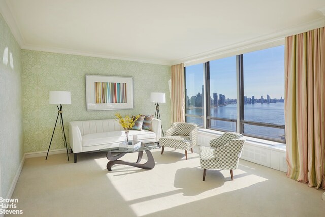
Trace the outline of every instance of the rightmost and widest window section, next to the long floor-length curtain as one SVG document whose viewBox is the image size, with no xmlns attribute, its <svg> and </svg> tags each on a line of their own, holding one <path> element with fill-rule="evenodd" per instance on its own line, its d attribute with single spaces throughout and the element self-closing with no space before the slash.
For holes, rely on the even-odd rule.
<svg viewBox="0 0 325 217">
<path fill-rule="evenodd" d="M 284 139 L 284 47 L 243 54 L 242 132 Z"/>
</svg>

